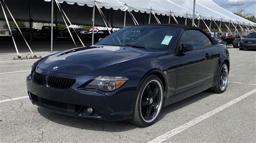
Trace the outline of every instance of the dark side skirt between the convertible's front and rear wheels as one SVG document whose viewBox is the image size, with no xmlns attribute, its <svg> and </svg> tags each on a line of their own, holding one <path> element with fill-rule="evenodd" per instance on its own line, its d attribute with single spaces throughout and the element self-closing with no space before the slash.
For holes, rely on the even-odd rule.
<svg viewBox="0 0 256 143">
<path fill-rule="evenodd" d="M 202 91 L 205 91 L 205 90 L 207 90 L 207 89 L 209 89 L 211 87 L 214 87 L 214 86 L 215 86 L 215 83 L 214 82 L 210 82 L 210 83 L 206 83 L 206 84 L 200 85 L 199 87 L 196 87 L 196 88 L 184 91 L 184 92 L 182 92 L 180 94 L 173 95 L 173 96 L 165 99 L 164 106 L 176 103 L 178 101 L 181 101 L 182 99 L 185 99 L 187 97 L 196 95 L 196 94 L 198 94 L 198 93 L 200 93 Z"/>
</svg>

